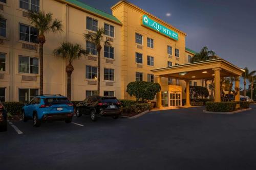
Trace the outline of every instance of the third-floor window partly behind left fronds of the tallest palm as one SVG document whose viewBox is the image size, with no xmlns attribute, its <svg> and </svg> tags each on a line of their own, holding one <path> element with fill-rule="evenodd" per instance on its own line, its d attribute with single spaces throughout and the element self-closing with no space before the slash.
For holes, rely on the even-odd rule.
<svg viewBox="0 0 256 170">
<path fill-rule="evenodd" d="M 38 43 L 38 29 L 19 24 L 19 40 Z"/>
</svg>

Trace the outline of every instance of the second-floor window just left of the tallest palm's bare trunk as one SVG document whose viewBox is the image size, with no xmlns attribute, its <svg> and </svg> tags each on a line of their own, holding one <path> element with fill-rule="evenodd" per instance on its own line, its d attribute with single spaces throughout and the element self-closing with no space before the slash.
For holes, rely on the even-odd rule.
<svg viewBox="0 0 256 170">
<path fill-rule="evenodd" d="M 38 74 L 38 58 L 19 56 L 20 73 Z"/>
</svg>

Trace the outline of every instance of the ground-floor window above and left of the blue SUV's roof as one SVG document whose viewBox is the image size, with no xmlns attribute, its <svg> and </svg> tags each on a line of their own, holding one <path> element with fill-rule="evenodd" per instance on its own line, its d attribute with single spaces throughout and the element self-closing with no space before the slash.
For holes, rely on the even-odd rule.
<svg viewBox="0 0 256 170">
<path fill-rule="evenodd" d="M 38 95 L 38 89 L 36 88 L 19 88 L 18 89 L 18 101 L 28 102 Z"/>
</svg>

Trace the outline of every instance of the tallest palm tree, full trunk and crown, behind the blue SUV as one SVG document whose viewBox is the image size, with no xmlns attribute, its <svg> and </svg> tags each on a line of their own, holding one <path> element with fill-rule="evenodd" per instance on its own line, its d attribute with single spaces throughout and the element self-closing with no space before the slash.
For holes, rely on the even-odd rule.
<svg viewBox="0 0 256 170">
<path fill-rule="evenodd" d="M 38 29 L 39 42 L 39 61 L 40 61 L 40 94 L 43 93 L 44 84 L 44 43 L 46 42 L 45 34 L 49 32 L 62 31 L 62 23 L 58 19 L 52 18 L 52 13 L 29 11 L 29 21 L 32 26 Z"/>
</svg>

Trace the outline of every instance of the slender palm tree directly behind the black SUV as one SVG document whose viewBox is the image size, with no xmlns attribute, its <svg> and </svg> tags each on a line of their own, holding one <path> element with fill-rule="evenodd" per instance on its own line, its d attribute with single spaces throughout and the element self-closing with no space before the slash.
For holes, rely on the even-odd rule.
<svg viewBox="0 0 256 170">
<path fill-rule="evenodd" d="M 98 53 L 98 95 L 100 95 L 100 52 L 101 52 L 101 44 L 103 43 L 106 46 L 111 46 L 109 40 L 104 40 L 104 28 L 100 28 L 93 34 L 84 34 L 84 39 L 92 42 L 96 45 L 97 53 Z"/>
</svg>

